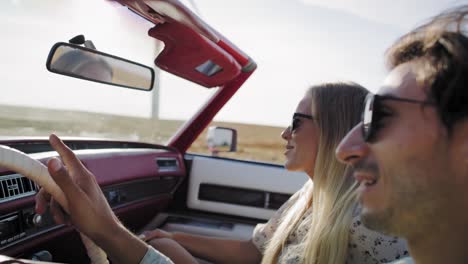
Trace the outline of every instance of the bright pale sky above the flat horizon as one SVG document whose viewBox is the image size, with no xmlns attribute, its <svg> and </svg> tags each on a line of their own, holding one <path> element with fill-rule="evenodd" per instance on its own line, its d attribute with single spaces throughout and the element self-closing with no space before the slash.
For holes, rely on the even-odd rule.
<svg viewBox="0 0 468 264">
<path fill-rule="evenodd" d="M 218 121 L 285 126 L 307 87 L 354 81 L 376 91 L 384 52 L 452 0 L 192 0 L 200 16 L 258 64 Z M 149 117 L 152 95 L 48 73 L 48 50 L 84 34 L 101 51 L 152 65 L 152 25 L 107 0 L 0 1 L 0 104 Z M 167 73 L 159 116 L 185 120 L 214 93 Z M 1 111 L 1 110 L 0 110 Z"/>
</svg>

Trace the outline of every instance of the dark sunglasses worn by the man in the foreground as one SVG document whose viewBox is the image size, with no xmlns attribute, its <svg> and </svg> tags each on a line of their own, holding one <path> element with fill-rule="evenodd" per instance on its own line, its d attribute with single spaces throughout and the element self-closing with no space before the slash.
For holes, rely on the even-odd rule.
<svg viewBox="0 0 468 264">
<path fill-rule="evenodd" d="M 364 141 L 372 142 L 380 127 L 377 126 L 383 117 L 382 101 L 392 100 L 420 105 L 435 105 L 429 101 L 419 101 L 408 98 L 400 98 L 391 95 L 378 95 L 369 93 L 364 101 L 364 111 L 362 112 L 362 136 Z"/>
</svg>

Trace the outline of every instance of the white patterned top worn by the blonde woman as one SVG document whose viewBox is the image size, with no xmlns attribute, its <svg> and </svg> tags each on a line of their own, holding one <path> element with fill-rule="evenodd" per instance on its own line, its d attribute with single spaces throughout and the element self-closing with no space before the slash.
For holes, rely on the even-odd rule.
<svg viewBox="0 0 468 264">
<path fill-rule="evenodd" d="M 301 197 L 298 195 L 299 192 L 283 204 L 267 223 L 255 227 L 252 241 L 262 254 L 265 251 L 266 242 L 278 228 L 280 216 L 285 212 L 286 208 L 289 208 L 290 203 L 296 202 Z M 307 210 L 303 219 L 311 217 L 311 212 L 311 209 Z M 302 263 L 304 255 L 303 240 L 308 231 L 308 227 L 304 222 L 309 221 L 302 221 L 289 236 L 279 256 L 278 263 Z M 365 228 L 358 213 L 353 218 L 349 233 L 350 241 L 346 264 L 387 263 L 408 256 L 408 249 L 404 240 L 385 236 Z"/>
</svg>

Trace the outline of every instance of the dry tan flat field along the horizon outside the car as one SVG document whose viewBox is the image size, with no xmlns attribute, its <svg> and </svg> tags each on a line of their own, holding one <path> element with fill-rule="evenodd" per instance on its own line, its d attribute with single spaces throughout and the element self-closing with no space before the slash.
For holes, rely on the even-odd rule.
<svg viewBox="0 0 468 264">
<path fill-rule="evenodd" d="M 0 106 L 0 136 L 39 136 L 50 133 L 60 136 L 165 143 L 181 127 L 182 121 L 38 109 L 22 106 Z M 237 151 L 220 153 L 221 157 L 282 164 L 285 142 L 283 128 L 251 124 L 213 122 L 237 130 Z M 188 152 L 210 155 L 206 146 L 206 130 Z"/>
</svg>

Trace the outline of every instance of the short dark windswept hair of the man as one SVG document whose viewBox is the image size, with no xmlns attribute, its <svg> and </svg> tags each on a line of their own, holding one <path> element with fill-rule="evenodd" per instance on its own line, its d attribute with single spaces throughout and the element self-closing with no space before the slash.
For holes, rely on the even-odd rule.
<svg viewBox="0 0 468 264">
<path fill-rule="evenodd" d="M 449 132 L 468 117 L 467 22 L 468 5 L 458 6 L 404 35 L 387 51 L 390 69 L 415 60 L 424 63 L 428 99 Z"/>
</svg>

